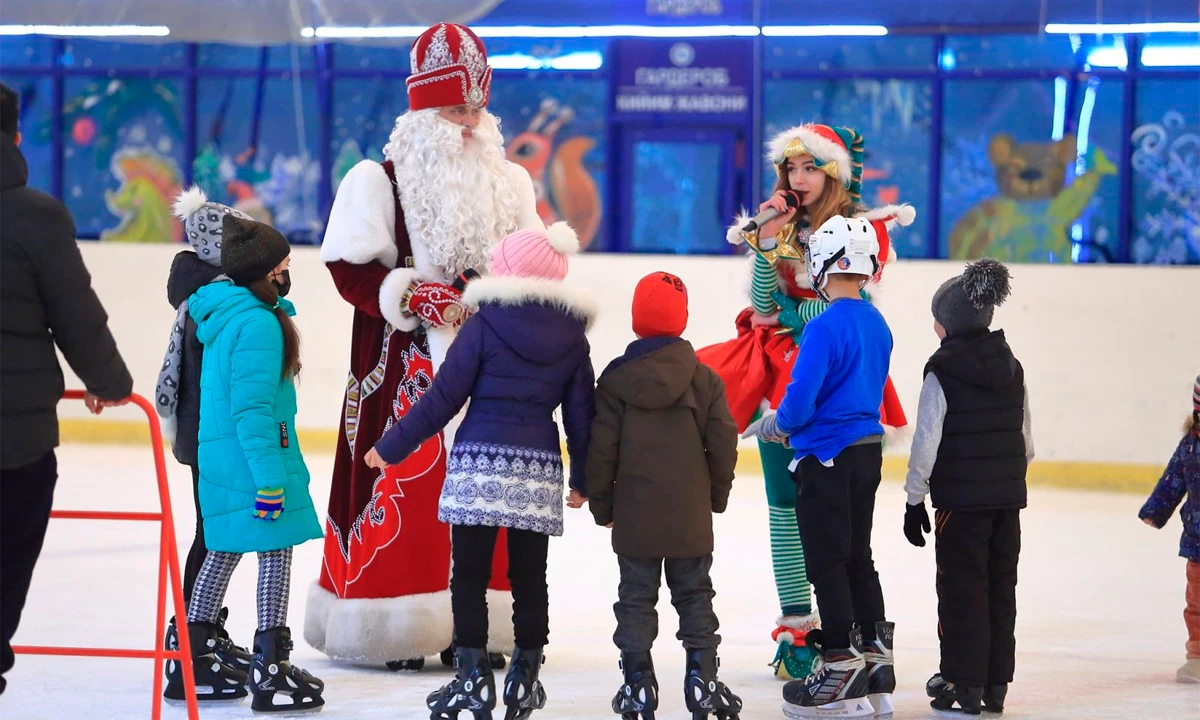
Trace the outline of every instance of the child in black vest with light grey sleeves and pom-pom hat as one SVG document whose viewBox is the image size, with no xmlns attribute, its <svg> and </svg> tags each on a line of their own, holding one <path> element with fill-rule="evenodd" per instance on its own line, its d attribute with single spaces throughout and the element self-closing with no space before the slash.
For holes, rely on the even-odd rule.
<svg viewBox="0 0 1200 720">
<path fill-rule="evenodd" d="M 904 532 L 924 547 L 932 493 L 937 529 L 941 672 L 925 691 L 937 710 L 1000 713 L 1013 680 L 1016 560 L 1025 474 L 1033 458 L 1025 372 L 989 330 L 1009 293 L 1008 268 L 984 258 L 934 294 L 942 347 L 925 365 L 905 490 Z M 956 707 L 955 707 L 956 706 Z"/>
</svg>

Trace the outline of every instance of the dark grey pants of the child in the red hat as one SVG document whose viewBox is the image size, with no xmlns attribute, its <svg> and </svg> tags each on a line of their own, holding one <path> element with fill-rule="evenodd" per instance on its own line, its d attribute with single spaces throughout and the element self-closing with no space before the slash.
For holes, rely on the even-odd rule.
<svg viewBox="0 0 1200 720">
<path fill-rule="evenodd" d="M 659 636 L 659 586 L 666 570 L 671 604 L 679 613 L 676 637 L 684 649 L 715 648 L 721 643 L 716 634 L 720 623 L 713 612 L 713 581 L 708 576 L 713 556 L 700 558 L 626 558 L 618 557 L 620 587 L 617 604 L 617 632 L 612 641 L 623 653 L 648 653 Z"/>
</svg>

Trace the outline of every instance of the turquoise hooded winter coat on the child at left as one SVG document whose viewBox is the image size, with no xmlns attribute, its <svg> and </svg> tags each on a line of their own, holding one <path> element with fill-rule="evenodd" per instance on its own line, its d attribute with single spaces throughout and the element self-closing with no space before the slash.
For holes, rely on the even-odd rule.
<svg viewBox="0 0 1200 720">
<path fill-rule="evenodd" d="M 280 300 L 288 314 L 295 310 Z M 282 377 L 283 331 L 270 306 L 230 282 L 188 300 L 200 368 L 200 514 L 220 552 L 266 552 L 322 536 L 295 433 L 296 391 Z M 276 521 L 254 517 L 260 488 L 283 488 Z"/>
</svg>

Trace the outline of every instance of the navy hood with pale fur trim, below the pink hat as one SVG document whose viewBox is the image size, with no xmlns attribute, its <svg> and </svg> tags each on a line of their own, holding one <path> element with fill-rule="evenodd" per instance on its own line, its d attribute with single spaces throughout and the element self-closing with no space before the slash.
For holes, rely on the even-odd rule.
<svg viewBox="0 0 1200 720">
<path fill-rule="evenodd" d="M 467 286 L 463 301 L 514 353 L 542 365 L 577 352 L 598 312 L 586 293 L 528 277 L 481 277 Z"/>
</svg>

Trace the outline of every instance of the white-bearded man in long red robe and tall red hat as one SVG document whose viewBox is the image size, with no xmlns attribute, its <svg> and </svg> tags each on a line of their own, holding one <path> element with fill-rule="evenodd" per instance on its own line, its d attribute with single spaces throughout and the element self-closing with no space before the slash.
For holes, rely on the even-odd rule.
<svg viewBox="0 0 1200 720">
<path fill-rule="evenodd" d="M 320 578 L 305 640 L 330 658 L 419 670 L 452 642 L 450 530 L 438 522 L 452 430 L 385 472 L 362 458 L 428 390 L 469 310 L 462 287 L 493 245 L 544 228 L 528 173 L 504 157 L 486 109 L 492 72 L 469 29 L 442 23 L 412 47 L 409 109 L 383 163 L 342 180 L 320 248 L 354 306 L 350 372 Z M 506 550 L 497 544 L 493 649 L 512 647 Z"/>
</svg>

